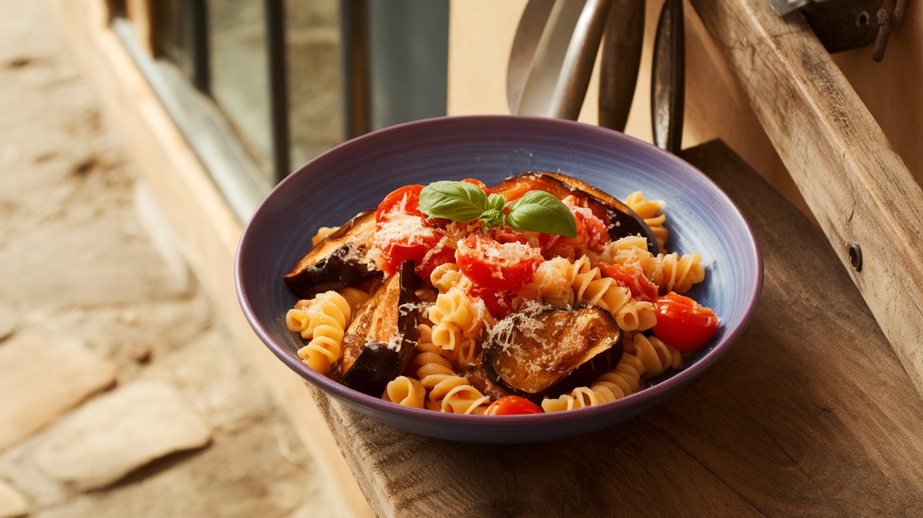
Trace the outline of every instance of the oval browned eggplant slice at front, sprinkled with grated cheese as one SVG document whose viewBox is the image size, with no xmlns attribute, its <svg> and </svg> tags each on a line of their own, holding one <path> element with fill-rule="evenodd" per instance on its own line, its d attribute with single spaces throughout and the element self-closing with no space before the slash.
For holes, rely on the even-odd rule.
<svg viewBox="0 0 923 518">
<path fill-rule="evenodd" d="M 497 323 L 484 345 L 488 379 L 540 402 L 586 385 L 617 363 L 622 333 L 601 307 L 520 312 Z"/>
</svg>

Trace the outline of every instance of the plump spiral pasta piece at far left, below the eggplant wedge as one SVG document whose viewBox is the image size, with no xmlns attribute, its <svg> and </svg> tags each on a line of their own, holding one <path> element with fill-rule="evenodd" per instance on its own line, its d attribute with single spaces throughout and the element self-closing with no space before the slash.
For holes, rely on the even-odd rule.
<svg viewBox="0 0 923 518">
<path fill-rule="evenodd" d="M 349 302 L 337 292 L 318 294 L 308 301 L 298 301 L 285 315 L 289 331 L 310 340 L 298 349 L 298 357 L 308 367 L 327 374 L 330 364 L 340 358 L 343 333 L 352 319 Z"/>
</svg>

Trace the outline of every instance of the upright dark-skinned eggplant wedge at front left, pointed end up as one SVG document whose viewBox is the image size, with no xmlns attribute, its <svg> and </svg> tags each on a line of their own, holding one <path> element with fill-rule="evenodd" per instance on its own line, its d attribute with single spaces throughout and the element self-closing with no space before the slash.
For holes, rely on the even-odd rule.
<svg viewBox="0 0 923 518">
<path fill-rule="evenodd" d="M 378 397 L 410 363 L 423 318 L 415 292 L 422 281 L 414 262 L 404 261 L 366 304 L 357 309 L 342 341 L 343 385 Z"/>
</svg>

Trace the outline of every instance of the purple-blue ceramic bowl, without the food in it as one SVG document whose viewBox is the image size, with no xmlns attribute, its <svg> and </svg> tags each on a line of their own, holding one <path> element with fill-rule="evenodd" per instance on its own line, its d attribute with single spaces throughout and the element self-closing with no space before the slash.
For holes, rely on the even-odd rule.
<svg viewBox="0 0 923 518">
<path fill-rule="evenodd" d="M 408 184 L 476 177 L 488 186 L 509 175 L 575 176 L 618 199 L 642 190 L 665 200 L 670 251 L 700 252 L 706 280 L 689 294 L 713 307 L 721 327 L 679 372 L 607 404 L 533 416 L 457 416 L 390 404 L 319 375 L 295 354 L 304 345 L 285 327 L 296 298 L 282 275 L 311 247 L 320 226 L 345 223 Z M 285 178 L 246 225 L 237 251 L 237 295 L 270 350 L 324 392 L 394 427 L 448 440 L 526 443 L 611 426 L 663 402 L 724 355 L 753 313 L 762 283 L 757 242 L 737 206 L 689 163 L 638 139 L 597 126 L 524 116 L 462 116 L 391 126 L 350 140 Z"/>
</svg>

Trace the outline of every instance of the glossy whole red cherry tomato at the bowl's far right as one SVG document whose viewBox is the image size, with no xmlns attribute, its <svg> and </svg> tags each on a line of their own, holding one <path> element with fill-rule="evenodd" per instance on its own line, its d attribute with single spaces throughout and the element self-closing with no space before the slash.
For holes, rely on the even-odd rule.
<svg viewBox="0 0 923 518">
<path fill-rule="evenodd" d="M 688 296 L 670 292 L 657 297 L 654 307 L 657 323 L 653 326 L 653 334 L 680 351 L 701 349 L 718 330 L 714 311 Z"/>
</svg>

